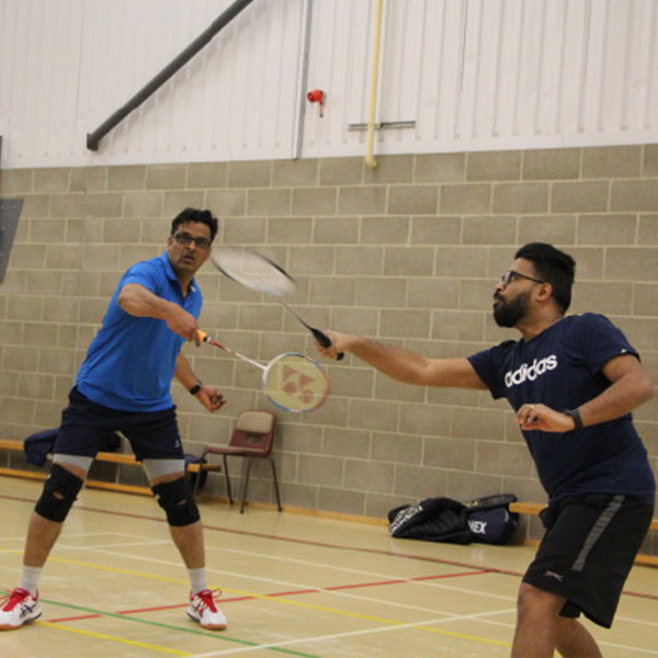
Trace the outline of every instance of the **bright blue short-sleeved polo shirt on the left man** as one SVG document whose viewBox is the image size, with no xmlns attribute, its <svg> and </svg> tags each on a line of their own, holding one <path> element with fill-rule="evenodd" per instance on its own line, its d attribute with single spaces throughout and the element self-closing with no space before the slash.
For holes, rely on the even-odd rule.
<svg viewBox="0 0 658 658">
<path fill-rule="evenodd" d="M 167 253 L 133 265 L 123 275 L 78 371 L 76 386 L 93 402 L 124 411 L 161 411 L 173 406 L 171 381 L 185 339 L 164 320 L 127 314 L 118 305 L 121 288 L 138 283 L 158 297 L 182 306 L 195 318 L 203 298 L 192 280 L 188 296 Z"/>
</svg>

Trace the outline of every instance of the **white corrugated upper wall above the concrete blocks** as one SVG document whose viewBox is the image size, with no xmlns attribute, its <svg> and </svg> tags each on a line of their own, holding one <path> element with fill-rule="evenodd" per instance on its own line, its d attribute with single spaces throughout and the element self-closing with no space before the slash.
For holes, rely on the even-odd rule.
<svg viewBox="0 0 658 658">
<path fill-rule="evenodd" d="M 97 152 L 86 135 L 232 0 L 0 0 L 3 167 L 293 157 L 302 18 L 253 0 Z M 375 0 L 313 0 L 302 157 L 362 155 Z M 385 0 L 376 154 L 658 141 L 658 0 Z M 304 90 L 306 91 L 306 90 Z"/>
</svg>

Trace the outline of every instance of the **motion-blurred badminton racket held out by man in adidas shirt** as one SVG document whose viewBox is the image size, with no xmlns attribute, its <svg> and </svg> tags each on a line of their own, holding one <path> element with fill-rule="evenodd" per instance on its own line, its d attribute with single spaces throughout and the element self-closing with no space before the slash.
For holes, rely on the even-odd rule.
<svg viewBox="0 0 658 658">
<path fill-rule="evenodd" d="M 211 253 L 211 261 L 228 279 L 259 293 L 268 293 L 280 297 L 283 307 L 324 347 L 331 347 L 331 339 L 306 322 L 281 297 L 294 293 L 297 288 L 295 280 L 277 263 L 250 249 L 234 249 L 219 247 Z M 343 353 L 337 354 L 337 360 Z"/>
</svg>

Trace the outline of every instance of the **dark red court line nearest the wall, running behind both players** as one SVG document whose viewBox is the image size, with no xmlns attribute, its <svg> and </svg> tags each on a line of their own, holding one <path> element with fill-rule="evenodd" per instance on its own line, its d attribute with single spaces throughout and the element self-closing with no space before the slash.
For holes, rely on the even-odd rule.
<svg viewBox="0 0 658 658">
<path fill-rule="evenodd" d="M 24 498 L 22 496 L 10 496 L 8 494 L 0 494 L 0 499 L 19 500 L 21 502 L 30 502 L 30 503 L 34 502 L 34 499 L 32 499 L 32 498 Z M 83 510 L 87 512 L 97 512 L 99 514 L 110 514 L 110 515 L 114 515 L 114 517 L 129 517 L 133 519 L 145 519 L 147 521 L 156 521 L 158 523 L 167 522 L 167 520 L 162 519 L 161 517 L 150 517 L 148 514 L 135 514 L 133 512 L 120 512 L 116 510 L 103 510 L 103 509 L 86 507 L 86 506 L 76 506 L 75 509 Z M 306 544 L 308 546 L 320 546 L 324 548 L 333 548 L 337 551 L 355 551 L 358 553 L 387 555 L 390 557 L 404 557 L 406 559 L 413 559 L 413 560 L 418 560 L 418 561 L 429 561 L 429 563 L 439 564 L 439 565 L 450 565 L 453 567 L 464 567 L 466 569 L 481 569 L 480 565 L 472 565 L 469 563 L 442 559 L 442 558 L 438 558 L 438 557 L 428 557 L 424 555 L 413 555 L 411 553 L 398 553 L 395 551 L 384 551 L 383 548 L 363 548 L 361 546 L 345 546 L 344 544 L 331 544 L 329 542 L 315 542 L 313 540 L 304 540 L 304 538 L 299 538 L 299 537 L 286 537 L 286 536 L 281 536 L 281 535 L 271 535 L 271 534 L 266 534 L 266 533 L 259 533 L 259 532 L 254 532 L 254 531 L 222 527 L 220 525 L 206 525 L 205 523 L 203 524 L 203 527 L 204 527 L 204 530 L 214 530 L 217 532 L 225 532 L 227 534 L 237 534 L 237 535 L 259 537 L 259 538 L 264 538 L 264 540 L 273 540 L 276 542 L 290 542 L 293 544 Z M 502 574 L 503 576 L 515 576 L 518 578 L 523 576 L 523 574 L 521 571 L 513 571 L 510 569 L 498 569 L 495 567 L 487 568 L 486 571 L 488 574 Z M 657 594 L 650 594 L 647 592 L 639 593 L 639 592 L 624 590 L 622 593 L 627 597 L 640 597 L 643 599 L 651 599 L 651 600 L 658 601 Z"/>
</svg>

